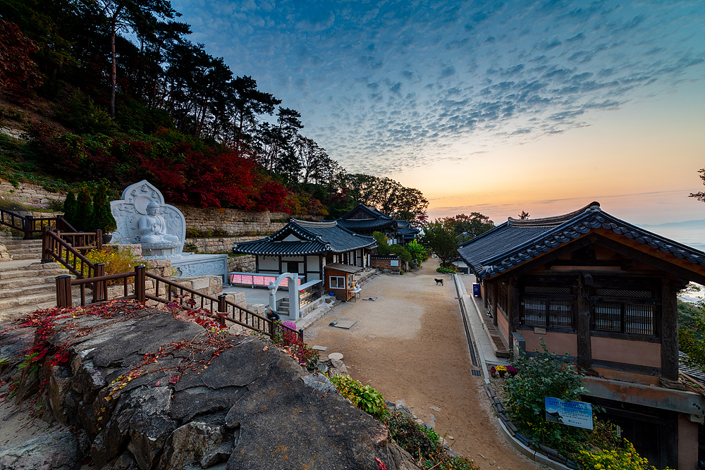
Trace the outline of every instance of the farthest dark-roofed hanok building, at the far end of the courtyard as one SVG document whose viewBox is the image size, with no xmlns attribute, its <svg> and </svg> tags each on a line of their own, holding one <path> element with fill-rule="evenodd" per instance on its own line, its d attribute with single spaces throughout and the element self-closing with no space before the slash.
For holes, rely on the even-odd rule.
<svg viewBox="0 0 705 470">
<path fill-rule="evenodd" d="M 419 233 L 419 230 L 413 228 L 409 221 L 398 221 L 396 218 L 382 214 L 374 207 L 365 206 L 362 202 L 358 203 L 355 209 L 348 214 L 338 218 L 337 221 L 341 227 L 360 235 L 372 235 L 374 232 L 384 233 L 391 245 L 409 243 Z"/>
</svg>

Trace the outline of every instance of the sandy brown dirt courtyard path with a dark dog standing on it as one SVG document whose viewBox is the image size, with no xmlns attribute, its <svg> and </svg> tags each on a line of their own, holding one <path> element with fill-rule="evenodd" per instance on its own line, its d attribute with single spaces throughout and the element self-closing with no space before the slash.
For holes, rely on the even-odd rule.
<svg viewBox="0 0 705 470">
<path fill-rule="evenodd" d="M 511 447 L 499 430 L 481 377 L 472 376 L 453 279 L 429 259 L 416 273 L 383 274 L 362 287 L 362 298 L 338 305 L 306 330 L 309 345 L 343 353 L 348 372 L 386 400 L 402 402 L 453 450 L 481 469 L 543 469 Z M 434 278 L 443 278 L 436 285 Z M 335 319 L 355 320 L 349 330 Z M 433 407 L 433 409 L 431 408 Z M 440 409 L 440 411 L 437 411 Z"/>
</svg>

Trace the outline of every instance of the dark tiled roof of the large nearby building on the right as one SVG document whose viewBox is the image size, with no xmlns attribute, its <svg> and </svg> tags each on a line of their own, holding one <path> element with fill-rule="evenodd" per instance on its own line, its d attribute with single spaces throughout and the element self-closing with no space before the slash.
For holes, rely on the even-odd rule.
<svg viewBox="0 0 705 470">
<path fill-rule="evenodd" d="M 493 278 L 596 228 L 612 230 L 705 267 L 705 253 L 611 216 L 600 209 L 598 202 L 563 216 L 526 220 L 510 217 L 460 245 L 458 254 L 479 278 Z"/>
</svg>

